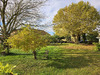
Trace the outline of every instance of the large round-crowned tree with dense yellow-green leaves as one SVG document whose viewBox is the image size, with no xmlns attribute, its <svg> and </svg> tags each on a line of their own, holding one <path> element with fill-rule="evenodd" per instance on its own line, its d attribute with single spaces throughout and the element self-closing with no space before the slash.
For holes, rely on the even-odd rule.
<svg viewBox="0 0 100 75">
<path fill-rule="evenodd" d="M 54 16 L 53 29 L 57 35 L 71 35 L 79 42 L 80 35 L 91 33 L 99 24 L 100 15 L 89 2 L 80 1 L 62 8 Z"/>
</svg>

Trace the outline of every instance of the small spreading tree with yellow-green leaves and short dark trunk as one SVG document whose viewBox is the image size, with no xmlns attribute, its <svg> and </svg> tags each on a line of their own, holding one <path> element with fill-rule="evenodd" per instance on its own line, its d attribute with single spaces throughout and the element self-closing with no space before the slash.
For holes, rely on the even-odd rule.
<svg viewBox="0 0 100 75">
<path fill-rule="evenodd" d="M 37 29 L 32 29 L 27 26 L 19 31 L 16 35 L 10 36 L 7 43 L 12 48 L 21 49 L 24 51 L 32 50 L 34 58 L 36 57 L 36 49 L 47 45 L 48 40 L 45 35 L 42 35 Z"/>
</svg>

